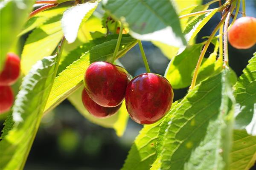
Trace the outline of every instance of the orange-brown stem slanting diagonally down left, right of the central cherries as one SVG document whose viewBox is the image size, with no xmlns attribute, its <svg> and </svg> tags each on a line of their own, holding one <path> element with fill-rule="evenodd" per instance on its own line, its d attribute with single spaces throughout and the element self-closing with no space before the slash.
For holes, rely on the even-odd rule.
<svg viewBox="0 0 256 170">
<path fill-rule="evenodd" d="M 221 18 L 221 21 L 218 23 L 218 25 L 214 28 L 214 30 L 212 31 L 212 34 L 209 36 L 209 39 L 207 40 L 207 42 L 205 43 L 204 45 L 204 48 L 199 56 L 199 59 L 198 59 L 198 62 L 197 62 L 197 65 L 195 67 L 195 72 L 194 72 L 194 75 L 193 75 L 193 78 L 192 78 L 192 82 L 191 82 L 191 85 L 189 87 L 190 90 L 192 90 L 194 87 L 195 87 L 195 83 L 196 83 L 196 79 L 197 79 L 197 76 L 198 76 L 198 72 L 199 72 L 199 68 L 200 68 L 200 65 L 204 59 L 204 55 L 207 51 L 207 48 L 209 47 L 213 37 L 215 36 L 215 34 L 217 33 L 218 29 L 223 25 L 225 19 L 227 17 L 227 12 L 223 15 L 223 17 Z"/>
</svg>

